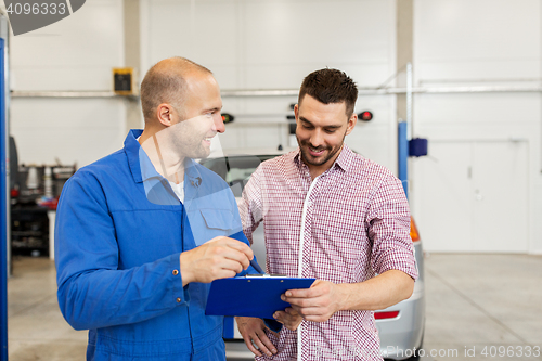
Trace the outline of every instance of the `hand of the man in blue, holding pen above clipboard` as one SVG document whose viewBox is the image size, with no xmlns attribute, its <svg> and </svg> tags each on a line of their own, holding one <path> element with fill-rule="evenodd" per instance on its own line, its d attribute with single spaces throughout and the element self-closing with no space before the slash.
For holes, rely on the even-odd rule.
<svg viewBox="0 0 542 361">
<path fill-rule="evenodd" d="M 253 250 L 245 243 L 230 237 L 215 237 L 181 254 L 182 285 L 235 276 L 248 268 L 253 258 Z"/>
</svg>

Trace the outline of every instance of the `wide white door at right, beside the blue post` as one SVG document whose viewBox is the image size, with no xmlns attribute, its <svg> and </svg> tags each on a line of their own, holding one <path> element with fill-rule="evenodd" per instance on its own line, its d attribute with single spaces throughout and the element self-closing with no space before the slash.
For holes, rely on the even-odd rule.
<svg viewBox="0 0 542 361">
<path fill-rule="evenodd" d="M 527 253 L 526 141 L 430 142 L 412 162 L 412 202 L 433 252 Z"/>
</svg>

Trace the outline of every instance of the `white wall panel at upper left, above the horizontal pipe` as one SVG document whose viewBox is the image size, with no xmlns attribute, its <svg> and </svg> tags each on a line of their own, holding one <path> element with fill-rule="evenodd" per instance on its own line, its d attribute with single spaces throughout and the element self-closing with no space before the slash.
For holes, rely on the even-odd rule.
<svg viewBox="0 0 542 361">
<path fill-rule="evenodd" d="M 124 63 L 121 4 L 87 2 L 61 22 L 12 37 L 12 89 L 111 90 L 111 68 Z"/>
</svg>

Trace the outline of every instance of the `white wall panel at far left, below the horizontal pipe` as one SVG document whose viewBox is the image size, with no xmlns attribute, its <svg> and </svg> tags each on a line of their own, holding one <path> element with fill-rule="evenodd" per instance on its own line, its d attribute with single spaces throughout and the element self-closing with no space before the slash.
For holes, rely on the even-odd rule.
<svg viewBox="0 0 542 361">
<path fill-rule="evenodd" d="M 16 99 L 11 132 L 22 164 L 82 167 L 122 146 L 126 111 L 115 99 Z"/>
</svg>

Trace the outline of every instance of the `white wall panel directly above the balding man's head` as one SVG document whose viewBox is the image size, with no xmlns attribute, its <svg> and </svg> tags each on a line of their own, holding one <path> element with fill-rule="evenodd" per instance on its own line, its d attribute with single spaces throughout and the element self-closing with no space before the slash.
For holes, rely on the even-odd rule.
<svg viewBox="0 0 542 361">
<path fill-rule="evenodd" d="M 142 0 L 142 76 L 163 59 L 184 56 L 208 67 L 222 88 L 237 88 L 236 0 Z"/>
</svg>

